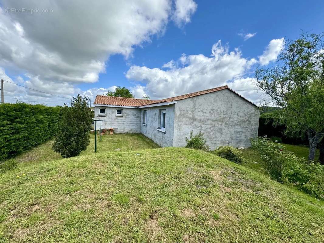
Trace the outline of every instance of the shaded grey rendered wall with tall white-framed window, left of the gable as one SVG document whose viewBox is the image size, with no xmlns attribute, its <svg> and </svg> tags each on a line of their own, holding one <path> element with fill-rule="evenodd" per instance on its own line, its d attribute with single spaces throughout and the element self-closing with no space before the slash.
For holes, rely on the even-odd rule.
<svg viewBox="0 0 324 243">
<path fill-rule="evenodd" d="M 141 133 L 152 139 L 161 147 L 173 146 L 173 129 L 174 129 L 174 104 L 168 106 L 157 106 L 141 109 Z M 166 133 L 157 130 L 160 127 L 159 110 L 166 110 Z M 143 110 L 146 111 L 146 126 L 142 124 Z"/>
</svg>

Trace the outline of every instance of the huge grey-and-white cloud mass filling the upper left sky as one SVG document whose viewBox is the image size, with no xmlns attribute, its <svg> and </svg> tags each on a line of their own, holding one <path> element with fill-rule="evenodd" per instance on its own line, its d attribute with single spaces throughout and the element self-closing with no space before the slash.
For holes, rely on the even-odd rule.
<svg viewBox="0 0 324 243">
<path fill-rule="evenodd" d="M 177 24 L 188 23 L 196 9 L 193 1 L 189 4 L 184 6 L 180 1 L 174 8 L 170 0 L 2 0 L 0 67 L 25 74 L 28 80 L 20 82 L 26 86 L 72 96 L 82 92 L 76 84 L 98 81 L 111 55 L 121 54 L 127 59 L 135 46 L 163 34 L 173 16 L 177 16 Z M 5 13 L 5 8 L 52 11 Z M 36 97 L 31 91 L 26 95 Z"/>
</svg>

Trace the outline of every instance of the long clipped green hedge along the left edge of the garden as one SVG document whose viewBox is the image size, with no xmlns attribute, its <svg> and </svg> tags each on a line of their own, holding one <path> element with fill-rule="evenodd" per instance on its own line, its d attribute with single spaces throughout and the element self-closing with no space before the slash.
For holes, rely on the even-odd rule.
<svg viewBox="0 0 324 243">
<path fill-rule="evenodd" d="M 53 137 L 61 107 L 24 103 L 0 105 L 0 161 Z"/>
</svg>

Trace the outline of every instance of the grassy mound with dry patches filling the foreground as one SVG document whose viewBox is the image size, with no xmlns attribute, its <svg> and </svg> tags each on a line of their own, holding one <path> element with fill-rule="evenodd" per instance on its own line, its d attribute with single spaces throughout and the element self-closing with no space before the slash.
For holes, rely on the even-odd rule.
<svg viewBox="0 0 324 243">
<path fill-rule="evenodd" d="M 210 153 L 158 148 L 22 163 L 0 241 L 321 242 L 324 203 Z"/>
</svg>

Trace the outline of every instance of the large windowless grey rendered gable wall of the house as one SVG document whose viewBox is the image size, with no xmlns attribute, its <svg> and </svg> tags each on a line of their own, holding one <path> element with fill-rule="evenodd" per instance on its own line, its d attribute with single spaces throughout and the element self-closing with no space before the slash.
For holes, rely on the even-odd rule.
<svg viewBox="0 0 324 243">
<path fill-rule="evenodd" d="M 223 145 L 249 147 L 249 138 L 258 135 L 259 110 L 256 106 L 224 89 L 175 104 L 173 146 L 186 145 L 190 131 L 202 131 L 211 150 Z"/>
</svg>

